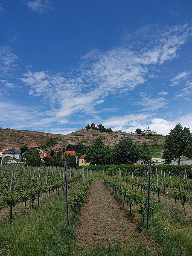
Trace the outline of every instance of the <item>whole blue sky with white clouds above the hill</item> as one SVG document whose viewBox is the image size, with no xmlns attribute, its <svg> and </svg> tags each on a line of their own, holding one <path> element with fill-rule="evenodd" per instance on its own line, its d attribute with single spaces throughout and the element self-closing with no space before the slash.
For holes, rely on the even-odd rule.
<svg viewBox="0 0 192 256">
<path fill-rule="evenodd" d="M 0 127 L 192 127 L 192 1 L 0 0 Z"/>
</svg>

